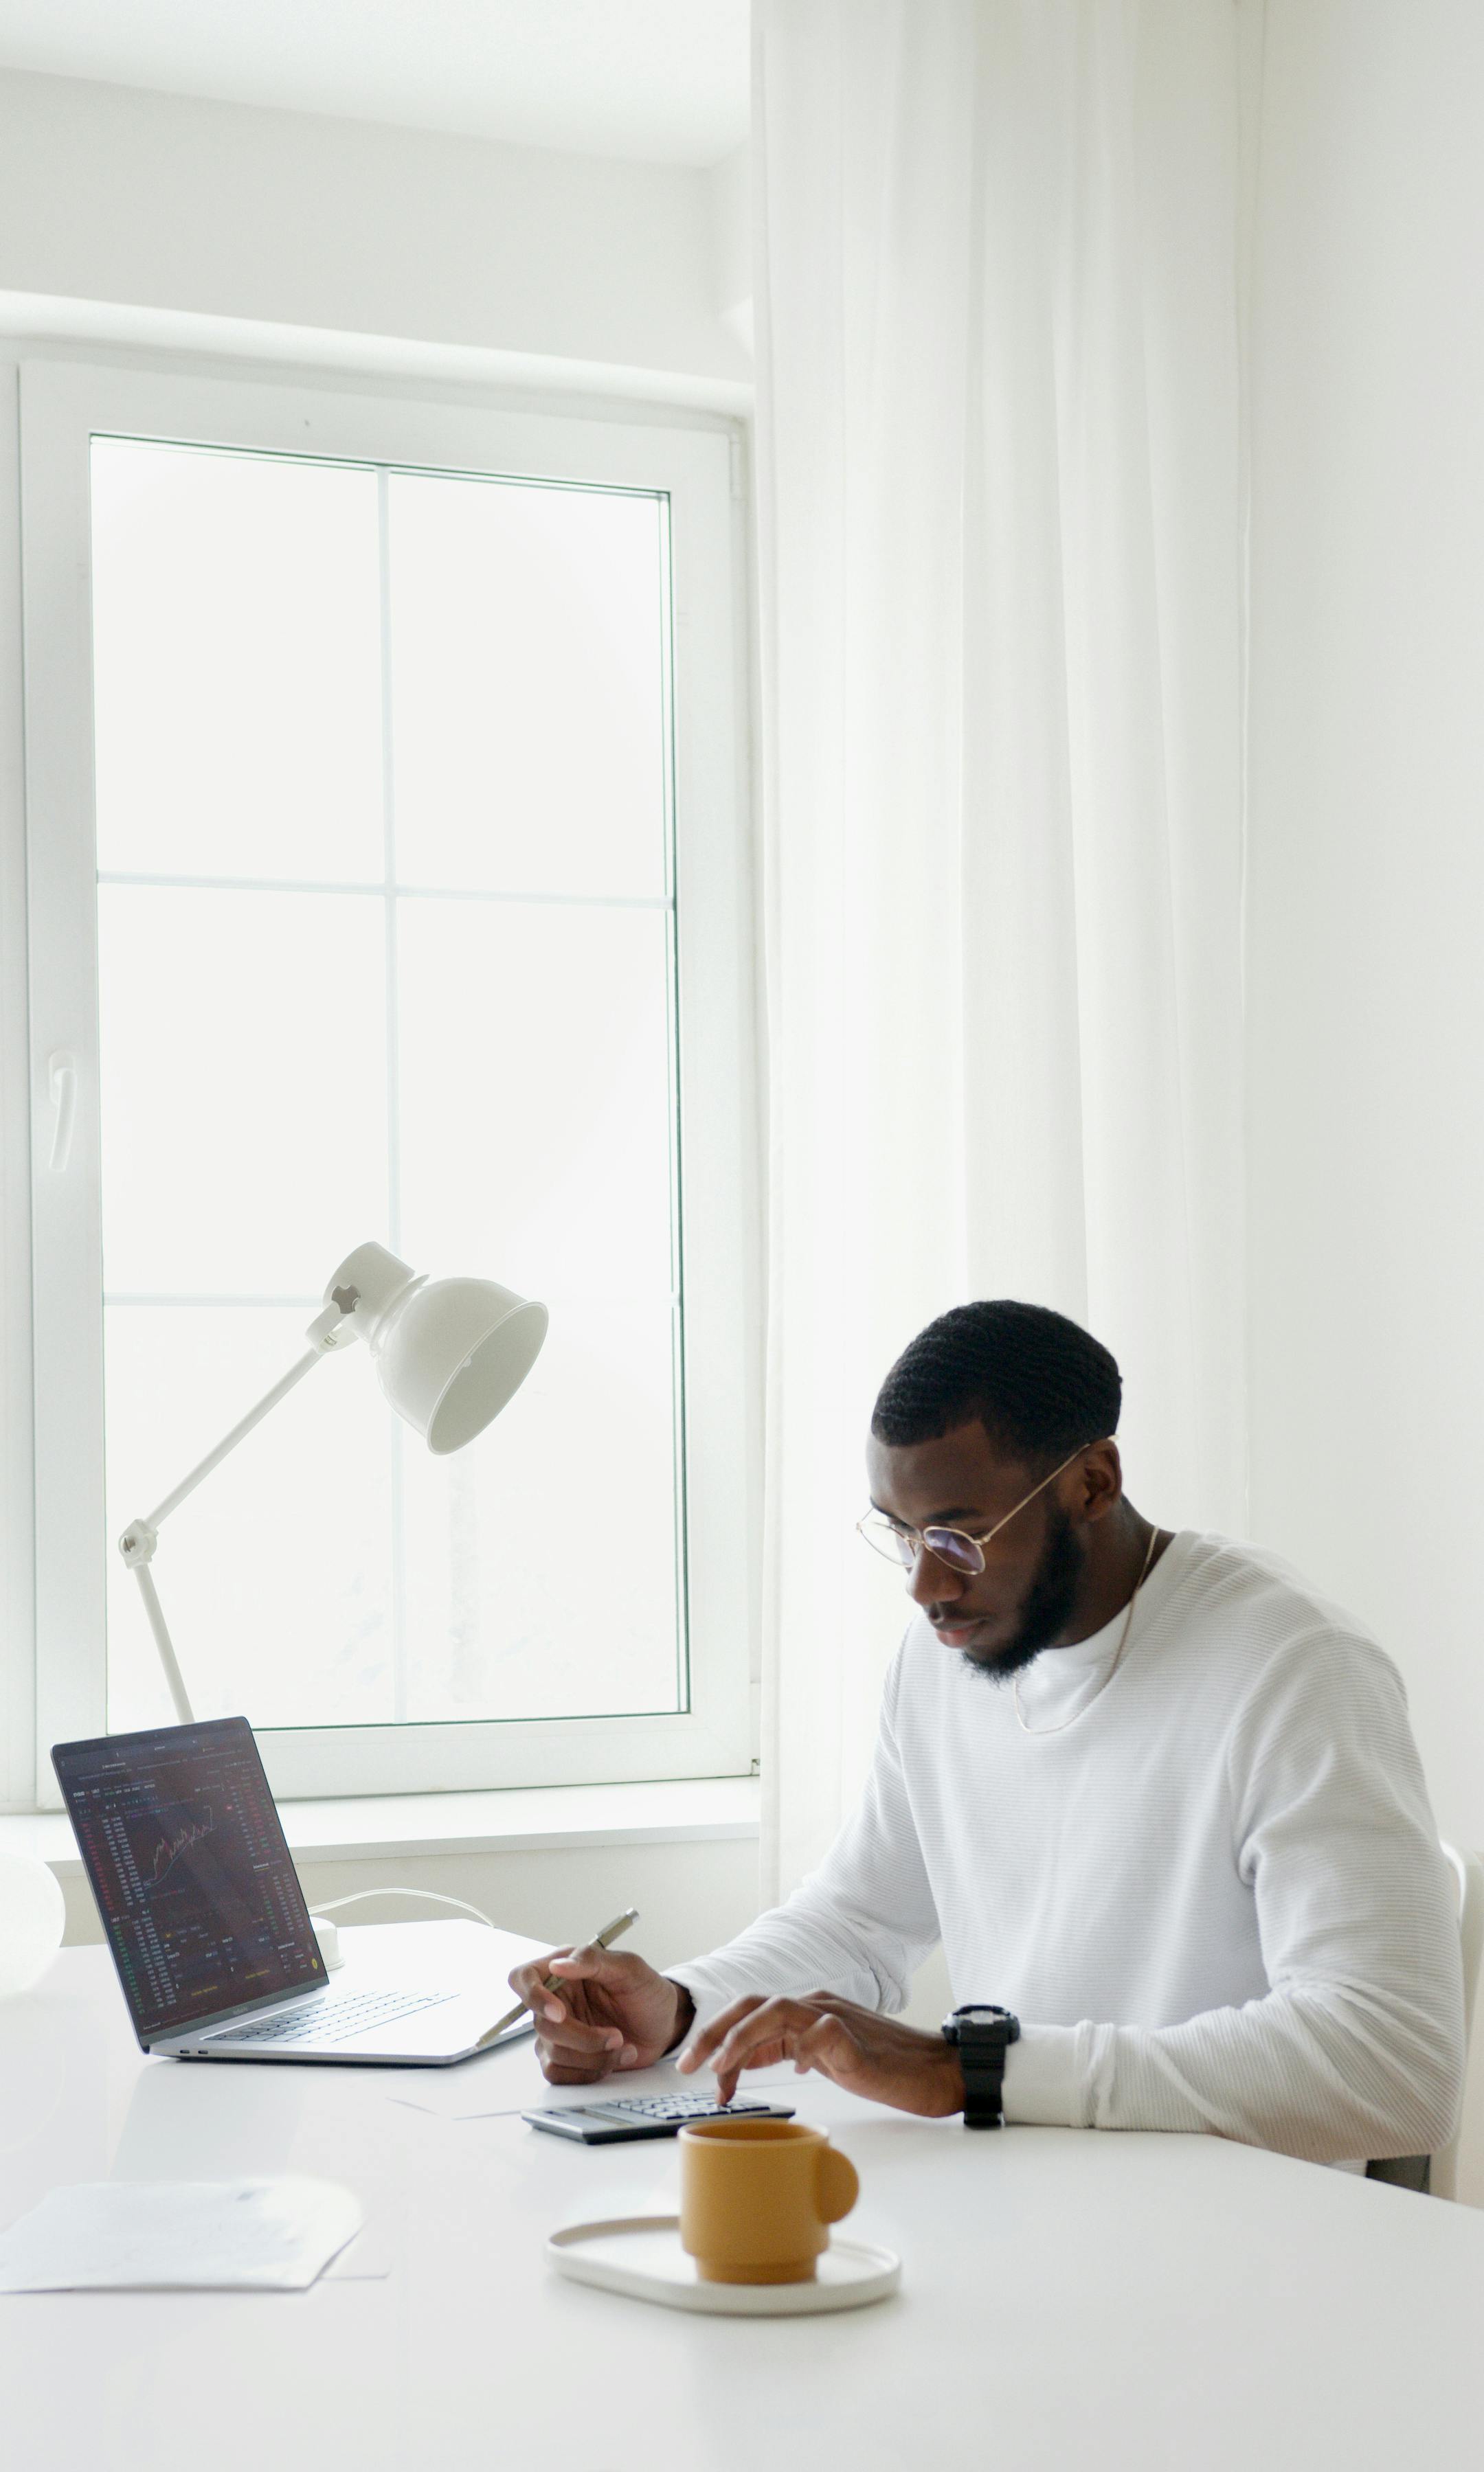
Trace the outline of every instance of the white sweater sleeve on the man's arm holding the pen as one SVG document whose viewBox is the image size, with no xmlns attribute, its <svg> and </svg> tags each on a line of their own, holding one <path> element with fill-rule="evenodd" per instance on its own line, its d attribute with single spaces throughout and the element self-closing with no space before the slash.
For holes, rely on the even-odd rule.
<svg viewBox="0 0 1484 2472">
<path fill-rule="evenodd" d="M 900 1661 L 903 1651 L 885 1678 L 866 1792 L 819 1871 L 725 1948 L 668 1968 L 700 2025 L 747 1992 L 824 1990 L 888 2012 L 908 2005 L 937 1913 L 895 1740 Z"/>
</svg>

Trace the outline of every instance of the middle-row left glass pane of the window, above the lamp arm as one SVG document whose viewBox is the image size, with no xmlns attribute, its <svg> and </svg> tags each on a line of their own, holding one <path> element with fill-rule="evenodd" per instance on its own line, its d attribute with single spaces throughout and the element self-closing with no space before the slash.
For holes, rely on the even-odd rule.
<svg viewBox="0 0 1484 2472">
<path fill-rule="evenodd" d="M 383 907 L 99 887 L 109 1290 L 317 1293 L 386 1229 Z"/>
</svg>

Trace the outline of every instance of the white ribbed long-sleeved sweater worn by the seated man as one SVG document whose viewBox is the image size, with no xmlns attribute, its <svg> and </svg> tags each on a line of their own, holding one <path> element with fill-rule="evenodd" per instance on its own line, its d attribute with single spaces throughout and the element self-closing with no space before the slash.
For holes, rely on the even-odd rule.
<svg viewBox="0 0 1484 2472">
<path fill-rule="evenodd" d="M 955 2002 L 1021 2017 L 1012 2121 L 1197 2128 L 1321 2163 L 1430 2153 L 1462 2086 L 1462 1960 L 1402 1681 L 1274 1555 L 1180 1533 L 1123 1617 L 1021 1674 L 923 1619 L 853 1819 L 794 1896 L 670 1968 L 900 2010 L 942 1938 Z"/>
</svg>

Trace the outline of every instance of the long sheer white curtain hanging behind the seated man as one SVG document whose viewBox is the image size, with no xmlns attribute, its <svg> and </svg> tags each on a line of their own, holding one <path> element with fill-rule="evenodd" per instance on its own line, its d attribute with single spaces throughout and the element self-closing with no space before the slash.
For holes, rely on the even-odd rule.
<svg viewBox="0 0 1484 2472">
<path fill-rule="evenodd" d="M 754 178 L 779 1894 L 925 1320 L 1076 1315 L 1133 1501 L 1244 1523 L 1239 10 L 757 0 Z"/>
</svg>

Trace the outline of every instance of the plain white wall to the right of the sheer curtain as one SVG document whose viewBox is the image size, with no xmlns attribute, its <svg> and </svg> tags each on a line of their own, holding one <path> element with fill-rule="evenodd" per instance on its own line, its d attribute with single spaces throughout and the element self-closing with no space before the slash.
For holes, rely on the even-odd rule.
<svg viewBox="0 0 1484 2472">
<path fill-rule="evenodd" d="M 1269 0 L 1252 358 L 1252 1533 L 1397 1656 L 1439 1827 L 1477 1847 L 1479 96 L 1479 0 Z M 1484 2203 L 1484 2175 L 1472 2193 Z"/>
</svg>

